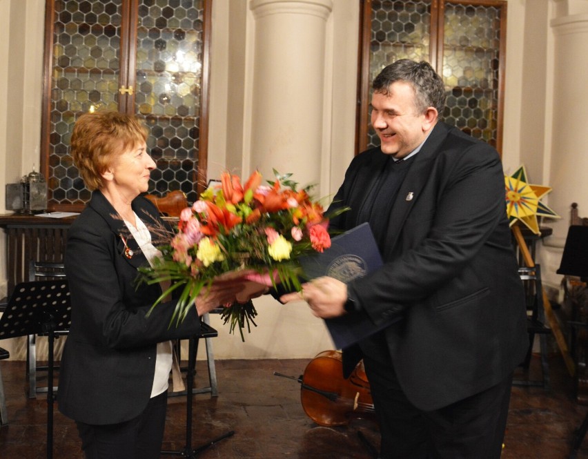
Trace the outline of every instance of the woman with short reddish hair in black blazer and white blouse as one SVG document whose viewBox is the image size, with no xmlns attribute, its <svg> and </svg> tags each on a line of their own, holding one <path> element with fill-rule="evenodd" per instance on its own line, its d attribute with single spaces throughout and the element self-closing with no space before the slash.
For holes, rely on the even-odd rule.
<svg viewBox="0 0 588 459">
<path fill-rule="evenodd" d="M 162 290 L 137 287 L 137 268 L 160 255 L 152 236 L 164 222 L 139 197 L 155 168 L 146 135 L 135 117 L 98 112 L 79 117 L 71 137 L 75 165 L 93 192 L 68 232 L 72 322 L 59 372 L 59 411 L 76 421 L 88 459 L 159 458 L 170 340 L 197 334 L 199 317 L 233 302 L 240 287 L 212 286 L 177 327 L 169 326 L 172 303 L 147 315 Z"/>
</svg>

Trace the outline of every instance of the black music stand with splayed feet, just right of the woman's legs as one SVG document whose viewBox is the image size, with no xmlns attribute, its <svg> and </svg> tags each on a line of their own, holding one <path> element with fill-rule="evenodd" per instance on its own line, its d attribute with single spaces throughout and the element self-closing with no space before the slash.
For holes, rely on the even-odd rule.
<svg viewBox="0 0 588 459">
<path fill-rule="evenodd" d="M 196 353 L 198 351 L 198 340 L 200 338 L 213 338 L 218 332 L 205 322 L 200 322 L 200 333 L 188 339 L 188 369 L 186 370 L 186 446 L 179 451 L 161 451 L 161 454 L 171 454 L 184 458 L 195 458 L 199 453 L 215 445 L 224 438 L 232 437 L 235 431 L 228 431 L 222 436 L 210 440 L 208 443 L 192 449 L 192 402 L 194 399 L 194 375 L 196 373 Z"/>
</svg>

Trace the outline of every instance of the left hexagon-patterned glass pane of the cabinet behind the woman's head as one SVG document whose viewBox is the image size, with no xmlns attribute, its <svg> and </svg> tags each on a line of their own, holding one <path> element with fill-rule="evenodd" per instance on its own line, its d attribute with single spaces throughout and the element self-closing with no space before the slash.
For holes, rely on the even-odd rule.
<svg viewBox="0 0 588 459">
<path fill-rule="evenodd" d="M 87 202 L 69 154 L 77 115 L 118 109 L 121 1 L 55 1 L 48 188 L 52 204 Z"/>
</svg>

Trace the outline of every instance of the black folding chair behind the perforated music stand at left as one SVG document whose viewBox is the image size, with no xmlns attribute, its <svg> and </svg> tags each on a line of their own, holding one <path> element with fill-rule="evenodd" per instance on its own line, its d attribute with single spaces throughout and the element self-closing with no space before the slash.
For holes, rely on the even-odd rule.
<svg viewBox="0 0 588 459">
<path fill-rule="evenodd" d="M 59 280 L 66 277 L 63 263 L 55 262 L 37 262 L 31 260 L 28 266 L 28 280 L 35 282 L 39 280 Z M 55 330 L 55 338 L 67 335 L 69 330 Z M 42 336 L 40 334 L 39 336 Z M 48 387 L 37 387 L 37 371 L 48 371 L 47 365 L 37 364 L 37 335 L 27 336 L 27 353 L 26 353 L 26 374 L 28 377 L 28 396 L 29 398 L 36 398 L 37 393 L 46 393 Z M 54 369 L 59 369 L 59 366 L 54 366 Z M 53 387 L 57 391 L 57 386 Z"/>
</svg>

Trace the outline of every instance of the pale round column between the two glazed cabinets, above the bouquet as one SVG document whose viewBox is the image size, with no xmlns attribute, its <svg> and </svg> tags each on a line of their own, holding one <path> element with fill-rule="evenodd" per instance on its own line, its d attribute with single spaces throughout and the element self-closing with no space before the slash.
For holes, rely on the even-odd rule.
<svg viewBox="0 0 588 459">
<path fill-rule="evenodd" d="M 332 0 L 252 0 L 255 32 L 249 166 L 320 179 L 326 29 Z"/>
</svg>

